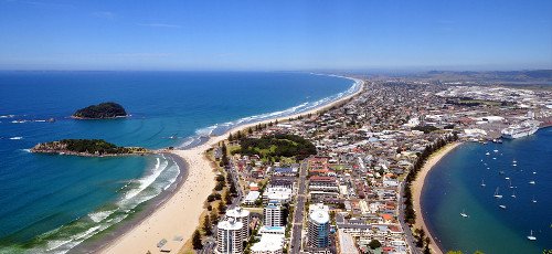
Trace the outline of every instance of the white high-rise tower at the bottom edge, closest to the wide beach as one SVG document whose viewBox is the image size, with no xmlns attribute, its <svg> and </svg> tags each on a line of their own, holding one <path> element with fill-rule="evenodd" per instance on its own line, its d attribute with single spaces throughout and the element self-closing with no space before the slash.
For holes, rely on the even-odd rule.
<svg viewBox="0 0 552 254">
<path fill-rule="evenodd" d="M 219 222 L 216 226 L 217 254 L 238 254 L 243 252 L 242 222 L 234 219 Z"/>
</svg>

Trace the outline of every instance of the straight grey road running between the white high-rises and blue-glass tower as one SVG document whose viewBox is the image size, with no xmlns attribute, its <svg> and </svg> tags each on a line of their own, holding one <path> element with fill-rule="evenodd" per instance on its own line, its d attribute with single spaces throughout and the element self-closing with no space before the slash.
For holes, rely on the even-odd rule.
<svg viewBox="0 0 552 254">
<path fill-rule="evenodd" d="M 305 201 L 307 199 L 307 163 L 304 161 L 299 168 L 299 189 L 297 191 L 297 202 L 294 210 L 294 222 L 291 227 L 291 246 L 289 253 L 300 253 L 302 220 L 305 214 Z"/>
</svg>

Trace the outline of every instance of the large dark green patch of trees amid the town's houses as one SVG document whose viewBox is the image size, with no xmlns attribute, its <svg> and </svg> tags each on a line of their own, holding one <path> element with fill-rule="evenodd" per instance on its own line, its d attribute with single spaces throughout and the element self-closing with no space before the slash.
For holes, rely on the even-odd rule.
<svg viewBox="0 0 552 254">
<path fill-rule="evenodd" d="M 258 155 L 262 159 L 295 157 L 302 160 L 316 155 L 316 147 L 307 139 L 297 135 L 270 135 L 261 138 L 243 138 L 240 149 L 233 154 L 246 156 Z"/>
</svg>

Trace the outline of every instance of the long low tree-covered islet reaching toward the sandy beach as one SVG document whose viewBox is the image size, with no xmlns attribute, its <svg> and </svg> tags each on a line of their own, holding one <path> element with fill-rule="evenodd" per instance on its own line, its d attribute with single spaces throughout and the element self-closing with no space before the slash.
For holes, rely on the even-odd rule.
<svg viewBox="0 0 552 254">
<path fill-rule="evenodd" d="M 142 147 L 118 147 L 103 139 L 62 139 L 38 144 L 31 148 L 31 152 L 104 157 L 145 155 L 151 151 Z"/>
</svg>

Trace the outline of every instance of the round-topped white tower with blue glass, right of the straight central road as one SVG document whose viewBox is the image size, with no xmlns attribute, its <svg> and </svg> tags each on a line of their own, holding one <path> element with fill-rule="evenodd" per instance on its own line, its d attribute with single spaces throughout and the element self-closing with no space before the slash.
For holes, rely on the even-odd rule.
<svg viewBox="0 0 552 254">
<path fill-rule="evenodd" d="M 314 205 L 308 218 L 307 245 L 309 247 L 328 247 L 330 245 L 330 214 L 328 207 Z"/>
</svg>

